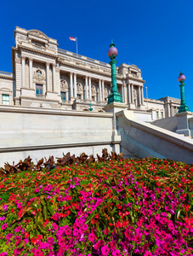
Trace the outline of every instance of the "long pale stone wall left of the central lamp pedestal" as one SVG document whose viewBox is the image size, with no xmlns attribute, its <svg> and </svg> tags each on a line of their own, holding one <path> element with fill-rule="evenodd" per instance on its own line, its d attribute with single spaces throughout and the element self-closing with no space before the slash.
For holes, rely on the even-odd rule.
<svg viewBox="0 0 193 256">
<path fill-rule="evenodd" d="M 112 150 L 111 113 L 1 106 L 0 118 L 0 166 L 28 155 L 38 160 Z"/>
</svg>

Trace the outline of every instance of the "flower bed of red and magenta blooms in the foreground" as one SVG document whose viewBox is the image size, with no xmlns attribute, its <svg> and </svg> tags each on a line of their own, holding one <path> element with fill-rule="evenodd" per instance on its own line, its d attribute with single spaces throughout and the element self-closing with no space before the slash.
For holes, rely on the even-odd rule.
<svg viewBox="0 0 193 256">
<path fill-rule="evenodd" d="M 107 160 L 0 177 L 0 255 L 193 255 L 193 166 Z"/>
</svg>

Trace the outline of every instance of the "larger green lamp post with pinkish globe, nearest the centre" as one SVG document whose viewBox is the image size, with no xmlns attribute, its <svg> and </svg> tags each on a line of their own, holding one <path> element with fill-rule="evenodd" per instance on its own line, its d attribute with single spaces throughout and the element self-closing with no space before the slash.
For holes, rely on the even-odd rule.
<svg viewBox="0 0 193 256">
<path fill-rule="evenodd" d="M 108 104 L 112 102 L 122 102 L 122 96 L 120 93 L 118 93 L 118 88 L 116 84 L 116 55 L 118 51 L 115 47 L 115 44 L 113 44 L 113 41 L 111 41 L 110 49 L 108 50 L 108 56 L 110 57 L 111 61 L 109 62 L 111 64 L 111 95 L 108 96 Z"/>
</svg>

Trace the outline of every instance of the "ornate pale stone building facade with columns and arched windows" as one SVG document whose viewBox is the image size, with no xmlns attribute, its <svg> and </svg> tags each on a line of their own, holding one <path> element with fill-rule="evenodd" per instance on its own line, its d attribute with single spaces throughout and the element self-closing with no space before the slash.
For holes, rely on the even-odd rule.
<svg viewBox="0 0 193 256">
<path fill-rule="evenodd" d="M 37 30 L 16 27 L 13 73 L 0 72 L 0 104 L 104 112 L 111 93 L 111 65 L 60 49 L 57 40 Z M 145 80 L 135 65 L 116 67 L 117 87 L 128 109 L 152 119 L 178 112 L 179 99 L 144 98 Z"/>
</svg>

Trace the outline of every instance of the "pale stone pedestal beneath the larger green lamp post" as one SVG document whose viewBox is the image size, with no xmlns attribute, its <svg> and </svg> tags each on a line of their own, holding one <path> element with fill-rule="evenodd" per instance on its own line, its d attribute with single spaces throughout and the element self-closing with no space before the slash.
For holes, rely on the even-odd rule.
<svg viewBox="0 0 193 256">
<path fill-rule="evenodd" d="M 120 154 L 120 143 L 122 141 L 122 137 L 117 133 L 118 123 L 116 120 L 116 113 L 121 112 L 123 109 L 126 108 L 127 106 L 125 105 L 125 103 L 120 102 L 111 102 L 103 108 L 105 112 L 113 113 L 111 140 L 113 144 L 113 152 L 116 152 L 116 154 Z"/>
</svg>

